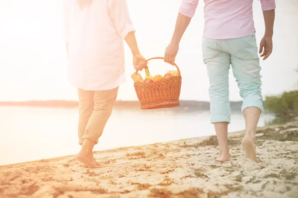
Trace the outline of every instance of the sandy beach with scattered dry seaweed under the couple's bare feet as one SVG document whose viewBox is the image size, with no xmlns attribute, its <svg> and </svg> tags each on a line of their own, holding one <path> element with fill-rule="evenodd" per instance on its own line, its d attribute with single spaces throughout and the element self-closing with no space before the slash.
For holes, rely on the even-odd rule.
<svg viewBox="0 0 298 198">
<path fill-rule="evenodd" d="M 257 131 L 259 163 L 244 157 L 244 132 L 229 134 L 230 161 L 215 161 L 215 136 L 0 167 L 0 198 L 297 198 L 298 122 Z"/>
</svg>

